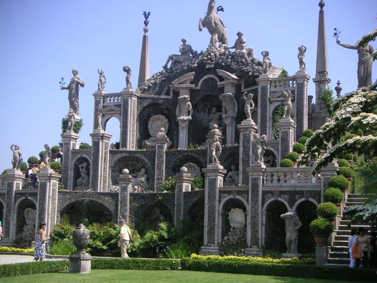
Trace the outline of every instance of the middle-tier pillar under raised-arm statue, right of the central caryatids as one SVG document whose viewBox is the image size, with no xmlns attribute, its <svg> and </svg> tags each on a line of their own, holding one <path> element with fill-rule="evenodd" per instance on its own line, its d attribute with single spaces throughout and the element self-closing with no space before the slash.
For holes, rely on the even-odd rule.
<svg viewBox="0 0 377 283">
<path fill-rule="evenodd" d="M 240 153 L 239 153 L 239 170 L 240 170 L 240 186 L 247 186 L 249 176 L 246 168 L 252 164 L 253 157 L 253 134 L 258 131 L 258 126 L 253 120 L 243 120 L 238 125 L 240 131 Z"/>
</svg>

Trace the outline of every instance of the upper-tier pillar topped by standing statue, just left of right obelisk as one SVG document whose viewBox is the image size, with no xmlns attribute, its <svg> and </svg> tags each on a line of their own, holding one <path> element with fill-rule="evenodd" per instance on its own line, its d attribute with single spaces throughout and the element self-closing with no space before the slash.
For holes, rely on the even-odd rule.
<svg viewBox="0 0 377 283">
<path fill-rule="evenodd" d="M 308 129 L 308 82 L 310 77 L 305 71 L 299 71 L 293 78 L 296 81 L 296 138 L 299 138 L 303 131 Z"/>
</svg>

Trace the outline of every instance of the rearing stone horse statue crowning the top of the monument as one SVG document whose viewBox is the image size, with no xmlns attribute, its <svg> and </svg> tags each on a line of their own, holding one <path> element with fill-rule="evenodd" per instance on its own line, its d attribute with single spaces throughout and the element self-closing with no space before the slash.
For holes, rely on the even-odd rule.
<svg viewBox="0 0 377 283">
<path fill-rule="evenodd" d="M 209 0 L 207 14 L 204 19 L 199 20 L 199 31 L 202 31 L 204 27 L 211 34 L 211 44 L 216 42 L 213 39 L 217 39 L 222 45 L 228 45 L 226 28 L 218 15 L 216 0 Z"/>
</svg>

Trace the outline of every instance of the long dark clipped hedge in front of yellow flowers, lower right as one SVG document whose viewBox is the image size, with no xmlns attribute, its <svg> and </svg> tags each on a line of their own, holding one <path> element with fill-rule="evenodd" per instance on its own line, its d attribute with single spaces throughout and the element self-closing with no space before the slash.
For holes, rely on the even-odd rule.
<svg viewBox="0 0 377 283">
<path fill-rule="evenodd" d="M 241 273 L 253 275 L 311 277 L 329 280 L 376 281 L 375 269 L 315 266 L 309 264 L 279 264 L 251 261 L 202 260 L 183 258 L 182 270 Z"/>
</svg>

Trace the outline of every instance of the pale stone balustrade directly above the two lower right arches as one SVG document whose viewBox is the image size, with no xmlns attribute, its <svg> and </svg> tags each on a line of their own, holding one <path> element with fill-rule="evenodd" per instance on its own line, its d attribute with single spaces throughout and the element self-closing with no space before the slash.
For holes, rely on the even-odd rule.
<svg viewBox="0 0 377 283">
<path fill-rule="evenodd" d="M 311 174 L 311 167 L 266 168 L 264 186 L 321 186 L 321 179 Z"/>
</svg>

